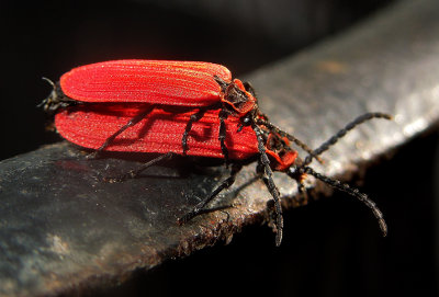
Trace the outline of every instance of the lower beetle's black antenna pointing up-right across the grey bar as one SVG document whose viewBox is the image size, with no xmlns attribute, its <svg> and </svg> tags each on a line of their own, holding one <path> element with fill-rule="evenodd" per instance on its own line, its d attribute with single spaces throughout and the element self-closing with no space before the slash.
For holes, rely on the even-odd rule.
<svg viewBox="0 0 439 297">
<path fill-rule="evenodd" d="M 358 125 L 372 119 L 372 118 L 385 118 L 385 119 L 392 119 L 392 116 L 389 114 L 384 113 L 365 113 L 363 115 L 360 115 L 352 122 L 350 122 L 348 125 L 346 125 L 342 129 L 340 129 L 338 133 L 336 133 L 333 137 L 330 137 L 328 140 L 322 144 L 317 149 L 315 149 L 312 153 L 309 153 L 305 160 L 303 161 L 303 165 L 307 165 L 313 161 L 313 158 L 316 158 L 317 156 L 322 155 L 326 150 L 328 150 L 331 146 L 334 146 L 338 139 L 342 138 L 348 132 L 357 127 Z"/>
</svg>

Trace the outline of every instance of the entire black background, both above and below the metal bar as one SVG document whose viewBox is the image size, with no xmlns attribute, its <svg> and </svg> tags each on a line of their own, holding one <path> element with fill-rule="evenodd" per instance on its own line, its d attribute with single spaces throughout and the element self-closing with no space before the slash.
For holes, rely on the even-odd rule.
<svg viewBox="0 0 439 297">
<path fill-rule="evenodd" d="M 36 108 L 50 92 L 42 77 L 57 80 L 72 67 L 121 58 L 213 61 L 239 77 L 306 50 L 389 2 L 1 1 L 0 158 L 59 140 Z M 279 249 L 269 228 L 252 227 L 228 247 L 139 271 L 90 295 L 437 296 L 431 160 L 438 151 L 437 135 L 423 137 L 364 178 L 362 190 L 384 197 L 386 239 L 365 207 L 336 195 L 286 214 Z"/>
</svg>

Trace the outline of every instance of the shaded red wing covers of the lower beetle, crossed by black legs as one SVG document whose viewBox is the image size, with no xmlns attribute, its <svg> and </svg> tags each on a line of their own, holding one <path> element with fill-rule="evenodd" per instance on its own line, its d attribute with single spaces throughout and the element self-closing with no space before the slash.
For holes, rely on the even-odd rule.
<svg viewBox="0 0 439 297">
<path fill-rule="evenodd" d="M 58 133 L 67 140 L 85 148 L 99 149 L 120 127 L 142 111 L 142 105 L 91 104 L 72 106 L 55 116 Z M 195 122 L 190 132 L 188 155 L 223 158 L 217 132 L 219 111 L 209 111 Z M 182 153 L 181 136 L 193 112 L 172 113 L 156 108 L 135 126 L 112 141 L 105 150 Z M 254 130 L 244 127 L 236 133 L 238 121 L 226 119 L 226 145 L 230 159 L 246 159 L 258 153 Z"/>
</svg>

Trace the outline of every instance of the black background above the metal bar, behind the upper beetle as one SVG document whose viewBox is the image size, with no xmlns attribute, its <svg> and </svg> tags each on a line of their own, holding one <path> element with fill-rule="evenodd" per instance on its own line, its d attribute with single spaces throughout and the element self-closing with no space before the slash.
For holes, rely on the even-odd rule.
<svg viewBox="0 0 439 297">
<path fill-rule="evenodd" d="M 121 58 L 212 61 L 238 77 L 387 1 L 350 2 L 0 1 L 0 159 L 58 139 L 44 130 L 44 114 L 35 107 L 50 92 L 42 77 L 58 80 L 74 67 Z"/>
</svg>

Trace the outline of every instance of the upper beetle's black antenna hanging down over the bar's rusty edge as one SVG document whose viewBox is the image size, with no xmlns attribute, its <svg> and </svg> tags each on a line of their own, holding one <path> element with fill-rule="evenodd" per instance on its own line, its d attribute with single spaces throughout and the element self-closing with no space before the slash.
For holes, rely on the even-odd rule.
<svg viewBox="0 0 439 297">
<path fill-rule="evenodd" d="M 273 171 L 270 168 L 270 160 L 266 153 L 266 146 L 263 140 L 263 133 L 256 124 L 251 125 L 252 129 L 256 133 L 256 137 L 258 139 L 258 150 L 260 153 L 259 164 L 263 168 L 266 172 L 266 178 L 263 179 L 268 191 L 270 192 L 271 196 L 274 201 L 274 212 L 275 212 L 275 245 L 279 247 L 282 242 L 282 235 L 283 235 L 283 217 L 282 217 L 282 206 L 280 199 L 280 193 L 278 187 L 273 181 Z"/>
</svg>

